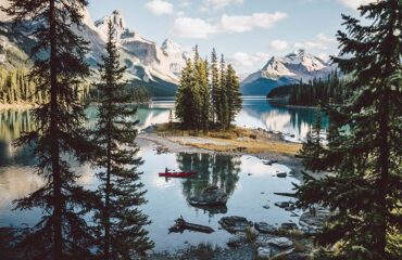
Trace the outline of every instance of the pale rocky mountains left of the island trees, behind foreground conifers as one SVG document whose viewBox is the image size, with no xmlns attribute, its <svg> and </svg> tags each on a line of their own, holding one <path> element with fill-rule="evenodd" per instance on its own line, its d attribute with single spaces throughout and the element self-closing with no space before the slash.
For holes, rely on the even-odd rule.
<svg viewBox="0 0 402 260">
<path fill-rule="evenodd" d="M 2 4 L 4 0 L 0 1 Z M 165 40 L 161 47 L 130 30 L 120 11 L 93 22 L 84 10 L 84 25 L 74 28 L 89 42 L 87 61 L 96 69 L 104 53 L 108 22 L 112 21 L 121 48 L 121 62 L 127 67 L 125 79 L 134 86 L 145 86 L 152 95 L 174 95 L 187 53 L 175 42 Z M 34 39 L 22 27 L 12 27 L 10 17 L 0 12 L 0 64 L 18 66 L 14 56 L 24 63 Z M 10 60 L 14 60 L 10 62 Z M 96 75 L 93 76 L 96 79 Z"/>
</svg>

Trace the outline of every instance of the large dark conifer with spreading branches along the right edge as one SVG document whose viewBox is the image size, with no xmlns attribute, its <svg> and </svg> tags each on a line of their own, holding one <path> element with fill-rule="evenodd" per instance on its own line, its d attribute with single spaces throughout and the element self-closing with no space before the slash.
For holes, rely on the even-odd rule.
<svg viewBox="0 0 402 260">
<path fill-rule="evenodd" d="M 354 79 L 344 105 L 329 108 L 332 129 L 328 167 L 335 174 L 306 178 L 299 205 L 321 204 L 334 211 L 317 240 L 337 244 L 325 259 L 402 258 L 402 2 L 382 0 L 360 8 L 364 23 L 343 15 L 338 32 L 341 55 L 335 58 Z M 327 170 L 323 167 L 322 170 Z"/>
</svg>

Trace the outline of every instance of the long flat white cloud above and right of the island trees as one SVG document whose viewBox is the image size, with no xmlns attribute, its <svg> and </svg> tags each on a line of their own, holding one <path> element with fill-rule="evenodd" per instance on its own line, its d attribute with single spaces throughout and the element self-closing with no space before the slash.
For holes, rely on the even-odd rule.
<svg viewBox="0 0 402 260">
<path fill-rule="evenodd" d="M 254 28 L 268 29 L 287 17 L 286 13 L 253 13 L 252 15 L 227 15 L 221 18 L 221 28 L 228 32 L 243 32 Z"/>
</svg>

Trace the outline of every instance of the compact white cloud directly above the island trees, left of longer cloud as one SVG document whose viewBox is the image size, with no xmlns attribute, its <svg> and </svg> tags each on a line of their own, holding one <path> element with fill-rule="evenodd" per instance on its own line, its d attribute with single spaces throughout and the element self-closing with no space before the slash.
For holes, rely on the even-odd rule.
<svg viewBox="0 0 402 260">
<path fill-rule="evenodd" d="M 216 27 L 201 18 L 178 17 L 172 32 L 183 38 L 202 39 L 216 34 Z"/>
</svg>

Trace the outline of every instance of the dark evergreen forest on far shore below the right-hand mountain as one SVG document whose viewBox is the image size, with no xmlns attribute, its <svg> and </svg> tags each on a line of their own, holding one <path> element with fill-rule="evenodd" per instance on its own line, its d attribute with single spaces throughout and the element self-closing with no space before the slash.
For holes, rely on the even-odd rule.
<svg viewBox="0 0 402 260">
<path fill-rule="evenodd" d="M 335 70 L 328 78 L 314 78 L 307 83 L 302 80 L 296 84 L 288 84 L 273 89 L 268 99 L 287 99 L 289 105 L 315 106 L 319 103 L 341 104 L 347 98 L 344 80 Z"/>
</svg>

